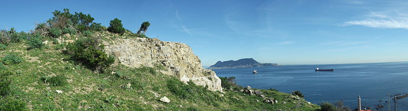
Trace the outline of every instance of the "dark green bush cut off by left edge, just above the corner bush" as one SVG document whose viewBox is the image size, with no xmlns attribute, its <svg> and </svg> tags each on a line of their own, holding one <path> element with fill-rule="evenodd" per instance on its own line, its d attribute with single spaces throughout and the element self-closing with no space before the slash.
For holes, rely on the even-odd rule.
<svg viewBox="0 0 408 111">
<path fill-rule="evenodd" d="M 10 71 L 1 71 L 0 74 L 0 96 L 7 96 L 10 94 L 10 83 L 9 76 L 13 75 Z"/>
</svg>

